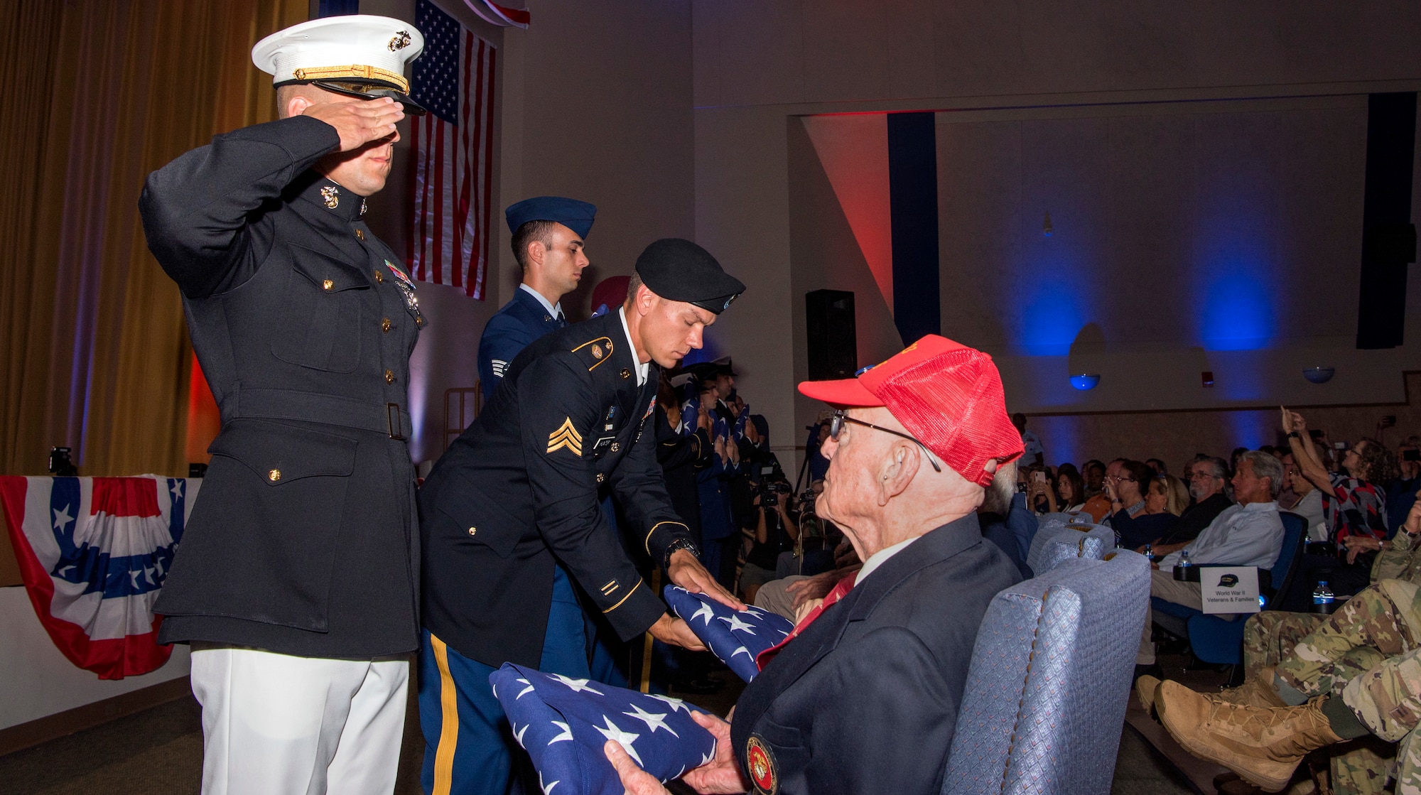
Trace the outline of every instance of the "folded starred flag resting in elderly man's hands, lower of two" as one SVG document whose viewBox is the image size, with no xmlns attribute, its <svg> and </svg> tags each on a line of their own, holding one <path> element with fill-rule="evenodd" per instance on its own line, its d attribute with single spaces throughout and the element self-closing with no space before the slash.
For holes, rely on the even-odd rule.
<svg viewBox="0 0 1421 795">
<path fill-rule="evenodd" d="M 648 696 L 513 663 L 489 674 L 546 795 L 622 795 L 603 754 L 615 740 L 641 769 L 669 781 L 715 758 L 715 737 L 681 698 Z"/>
</svg>

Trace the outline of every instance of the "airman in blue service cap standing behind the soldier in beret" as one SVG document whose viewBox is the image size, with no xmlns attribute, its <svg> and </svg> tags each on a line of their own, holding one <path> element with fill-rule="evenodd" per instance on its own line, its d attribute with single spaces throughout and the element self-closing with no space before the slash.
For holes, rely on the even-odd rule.
<svg viewBox="0 0 1421 795">
<path fill-rule="evenodd" d="M 513 300 L 489 318 L 479 339 L 485 403 L 519 351 L 567 325 L 560 301 L 583 280 L 587 267 L 583 240 L 593 229 L 597 207 L 577 199 L 537 196 L 510 204 L 503 217 L 513 233 L 513 258 L 523 268 L 523 284 Z"/>
</svg>

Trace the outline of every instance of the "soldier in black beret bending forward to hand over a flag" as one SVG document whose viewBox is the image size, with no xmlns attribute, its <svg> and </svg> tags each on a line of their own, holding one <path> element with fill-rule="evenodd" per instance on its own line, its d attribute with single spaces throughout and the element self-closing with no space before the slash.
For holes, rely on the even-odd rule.
<svg viewBox="0 0 1421 795">
<path fill-rule="evenodd" d="M 588 679 L 576 589 L 622 640 L 649 630 L 701 647 L 637 574 L 598 510 L 600 486 L 671 582 L 740 606 L 696 559 L 671 507 L 651 420 L 661 368 L 701 348 L 705 327 L 743 290 L 695 243 L 652 243 L 627 302 L 524 348 L 429 473 L 419 490 L 425 792 L 506 791 L 523 751 L 489 674 L 513 662 Z"/>
</svg>

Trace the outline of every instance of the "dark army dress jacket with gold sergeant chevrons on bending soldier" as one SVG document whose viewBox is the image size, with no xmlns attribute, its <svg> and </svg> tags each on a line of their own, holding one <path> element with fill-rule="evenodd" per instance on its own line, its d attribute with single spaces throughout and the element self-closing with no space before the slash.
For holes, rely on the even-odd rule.
<svg viewBox="0 0 1421 795">
<path fill-rule="evenodd" d="M 689 538 L 657 464 L 659 369 L 638 388 L 635 368 L 618 312 L 541 336 L 435 463 L 419 490 L 423 620 L 460 654 L 537 667 L 554 555 L 624 640 L 665 613 L 598 507 L 605 483 L 658 564 Z"/>
</svg>

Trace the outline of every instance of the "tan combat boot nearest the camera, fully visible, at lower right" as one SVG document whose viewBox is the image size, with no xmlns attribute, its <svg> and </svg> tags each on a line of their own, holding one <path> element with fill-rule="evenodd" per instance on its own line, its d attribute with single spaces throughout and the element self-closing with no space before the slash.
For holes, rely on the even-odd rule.
<svg viewBox="0 0 1421 795">
<path fill-rule="evenodd" d="M 1177 681 L 1160 684 L 1160 723 L 1187 751 L 1218 762 L 1269 792 L 1282 792 L 1303 755 L 1341 738 L 1322 713 L 1322 698 L 1302 707 L 1229 704 Z"/>
</svg>

